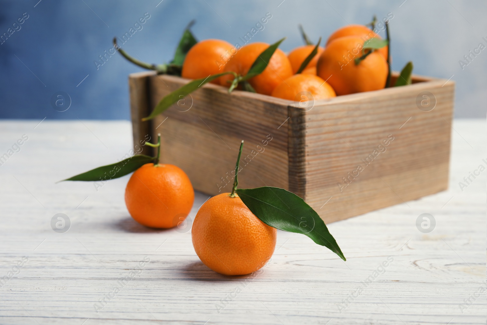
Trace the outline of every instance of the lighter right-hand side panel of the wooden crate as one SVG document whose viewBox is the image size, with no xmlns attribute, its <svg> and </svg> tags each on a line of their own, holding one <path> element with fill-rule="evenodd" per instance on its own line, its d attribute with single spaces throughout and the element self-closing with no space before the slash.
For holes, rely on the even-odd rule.
<svg viewBox="0 0 487 325">
<path fill-rule="evenodd" d="M 323 218 L 339 211 L 340 220 L 402 202 L 389 195 L 391 189 L 407 201 L 447 188 L 454 84 L 398 88 L 306 113 L 306 201 Z M 429 112 L 416 105 L 424 91 L 436 101 Z M 399 174 L 408 177 L 384 182 Z"/>
</svg>

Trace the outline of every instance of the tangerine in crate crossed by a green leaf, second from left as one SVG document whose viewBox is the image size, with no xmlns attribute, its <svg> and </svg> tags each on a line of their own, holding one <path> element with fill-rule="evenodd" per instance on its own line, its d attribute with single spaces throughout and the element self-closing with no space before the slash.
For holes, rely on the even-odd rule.
<svg viewBox="0 0 487 325">
<path fill-rule="evenodd" d="M 269 44 L 262 42 L 255 42 L 243 46 L 238 52 L 231 57 L 225 64 L 225 71 L 233 71 L 237 74 L 245 76 L 255 59 L 269 47 Z M 282 82 L 282 80 L 293 75 L 291 63 L 284 52 L 276 49 L 269 64 L 262 71 L 260 75 L 254 76 L 247 81 L 259 94 L 270 95 L 274 88 Z M 230 87 L 233 80 L 232 75 L 222 76 L 220 84 L 225 87 Z M 230 81 L 230 82 L 227 82 Z"/>
</svg>

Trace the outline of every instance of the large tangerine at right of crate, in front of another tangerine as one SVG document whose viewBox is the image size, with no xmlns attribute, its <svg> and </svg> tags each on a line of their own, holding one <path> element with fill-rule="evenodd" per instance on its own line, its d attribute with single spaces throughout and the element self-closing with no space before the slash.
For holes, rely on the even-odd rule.
<svg viewBox="0 0 487 325">
<path fill-rule="evenodd" d="M 385 87 L 387 62 L 374 51 L 359 64 L 364 40 L 346 36 L 331 41 L 318 59 L 317 75 L 333 87 L 337 96 L 368 92 Z"/>
</svg>

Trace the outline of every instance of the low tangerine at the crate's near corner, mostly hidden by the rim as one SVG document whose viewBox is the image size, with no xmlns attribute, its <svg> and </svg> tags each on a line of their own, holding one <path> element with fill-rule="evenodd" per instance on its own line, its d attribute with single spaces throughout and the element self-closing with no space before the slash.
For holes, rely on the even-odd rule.
<svg viewBox="0 0 487 325">
<path fill-rule="evenodd" d="M 309 94 L 312 98 L 309 98 Z M 301 101 L 336 97 L 333 88 L 319 76 L 298 74 L 282 81 L 274 91 L 273 97 Z"/>
</svg>

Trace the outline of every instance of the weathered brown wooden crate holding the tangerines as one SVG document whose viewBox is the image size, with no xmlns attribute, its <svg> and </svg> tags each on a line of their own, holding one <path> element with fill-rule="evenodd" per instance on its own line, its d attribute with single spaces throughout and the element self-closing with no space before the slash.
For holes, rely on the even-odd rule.
<svg viewBox="0 0 487 325">
<path fill-rule="evenodd" d="M 141 122 L 187 82 L 131 74 L 131 119 L 134 144 L 161 133 L 162 162 L 181 167 L 197 191 L 231 191 L 241 140 L 240 188 L 292 191 L 326 223 L 448 188 L 452 81 L 413 76 L 410 86 L 318 100 L 304 109 L 206 84 Z M 148 146 L 144 151 L 151 154 Z"/>
</svg>

